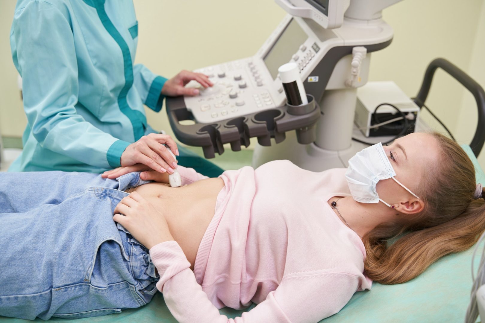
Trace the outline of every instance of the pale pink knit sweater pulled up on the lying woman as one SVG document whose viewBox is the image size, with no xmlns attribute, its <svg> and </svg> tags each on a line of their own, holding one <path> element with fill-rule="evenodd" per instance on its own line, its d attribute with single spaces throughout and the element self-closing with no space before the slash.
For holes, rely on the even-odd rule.
<svg viewBox="0 0 485 323">
<path fill-rule="evenodd" d="M 204 176 L 179 167 L 182 185 Z M 311 172 L 287 160 L 227 170 L 194 272 L 180 246 L 150 249 L 157 288 L 179 322 L 314 323 L 370 289 L 365 248 L 327 201 L 348 196 L 345 169 Z M 236 319 L 218 309 L 255 308 Z"/>
</svg>

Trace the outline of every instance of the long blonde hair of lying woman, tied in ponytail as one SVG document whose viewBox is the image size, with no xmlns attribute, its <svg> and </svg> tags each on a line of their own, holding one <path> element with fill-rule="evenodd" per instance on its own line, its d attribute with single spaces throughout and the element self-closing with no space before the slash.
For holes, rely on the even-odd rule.
<svg viewBox="0 0 485 323">
<path fill-rule="evenodd" d="M 420 178 L 417 193 L 424 210 L 412 221 L 381 224 L 364 236 L 365 273 L 381 284 L 417 277 L 437 259 L 473 246 L 485 230 L 485 201 L 474 199 L 472 162 L 456 142 L 439 133 L 432 135 L 438 141 L 440 159 L 429 165 L 433 171 L 425 171 Z"/>
</svg>

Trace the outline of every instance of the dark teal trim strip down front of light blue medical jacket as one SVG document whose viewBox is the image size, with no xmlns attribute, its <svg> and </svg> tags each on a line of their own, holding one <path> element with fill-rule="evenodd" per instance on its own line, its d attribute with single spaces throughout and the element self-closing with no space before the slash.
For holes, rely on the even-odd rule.
<svg viewBox="0 0 485 323">
<path fill-rule="evenodd" d="M 94 7 L 97 11 L 97 15 L 101 20 L 104 28 L 113 37 L 114 41 L 120 46 L 121 52 L 123 54 L 123 63 L 125 69 L 125 86 L 121 89 L 118 94 L 118 106 L 121 112 L 126 115 L 131 122 L 133 127 L 133 137 L 135 141 L 142 138 L 145 135 L 146 128 L 146 117 L 140 111 L 132 110 L 126 99 L 129 89 L 133 85 L 133 65 L 131 63 L 131 54 L 129 52 L 129 47 L 121 34 L 118 32 L 116 27 L 114 27 L 113 22 L 110 20 L 106 11 L 104 10 L 105 0 L 83 0 L 87 5 Z"/>
</svg>

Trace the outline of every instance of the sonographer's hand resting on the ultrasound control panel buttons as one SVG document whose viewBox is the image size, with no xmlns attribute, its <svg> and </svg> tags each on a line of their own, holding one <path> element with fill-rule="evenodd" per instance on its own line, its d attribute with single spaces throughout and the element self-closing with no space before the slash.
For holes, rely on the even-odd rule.
<svg viewBox="0 0 485 323">
<path fill-rule="evenodd" d="M 204 88 L 214 85 L 207 75 L 184 70 L 165 82 L 162 87 L 162 94 L 168 96 L 197 95 L 199 90 L 184 87 L 192 80 L 199 82 Z"/>
</svg>

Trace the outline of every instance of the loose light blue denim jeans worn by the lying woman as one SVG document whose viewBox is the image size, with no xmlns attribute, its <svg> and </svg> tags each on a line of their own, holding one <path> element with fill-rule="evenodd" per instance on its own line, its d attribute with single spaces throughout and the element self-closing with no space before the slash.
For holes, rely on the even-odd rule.
<svg viewBox="0 0 485 323">
<path fill-rule="evenodd" d="M 137 172 L 0 173 L 0 315 L 75 319 L 148 303 L 155 266 L 113 221 L 123 190 L 145 183 Z"/>
</svg>

